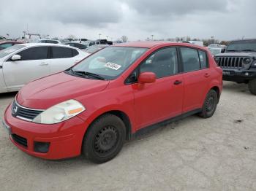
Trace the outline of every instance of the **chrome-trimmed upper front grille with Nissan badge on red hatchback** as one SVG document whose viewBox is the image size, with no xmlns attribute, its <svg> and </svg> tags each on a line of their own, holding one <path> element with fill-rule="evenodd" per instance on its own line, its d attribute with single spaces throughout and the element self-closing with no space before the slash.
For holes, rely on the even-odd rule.
<svg viewBox="0 0 256 191">
<path fill-rule="evenodd" d="M 16 101 L 12 102 L 12 116 L 20 118 L 22 120 L 32 121 L 38 114 L 42 113 L 43 110 L 29 109 L 17 104 Z"/>
</svg>

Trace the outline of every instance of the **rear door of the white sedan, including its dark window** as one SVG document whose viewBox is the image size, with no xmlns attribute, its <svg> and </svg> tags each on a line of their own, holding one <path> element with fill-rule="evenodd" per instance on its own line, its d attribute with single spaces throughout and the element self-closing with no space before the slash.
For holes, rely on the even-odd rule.
<svg viewBox="0 0 256 191">
<path fill-rule="evenodd" d="M 74 48 L 69 47 L 51 47 L 50 54 L 50 73 L 54 74 L 59 71 L 64 71 L 69 67 L 78 63 L 79 52 Z"/>
</svg>

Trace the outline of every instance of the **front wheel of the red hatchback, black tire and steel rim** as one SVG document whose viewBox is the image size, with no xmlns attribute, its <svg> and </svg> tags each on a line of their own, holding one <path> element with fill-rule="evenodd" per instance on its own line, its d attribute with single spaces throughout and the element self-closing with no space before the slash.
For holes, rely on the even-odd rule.
<svg viewBox="0 0 256 191">
<path fill-rule="evenodd" d="M 126 137 L 124 122 L 105 114 L 89 127 L 83 140 L 83 154 L 93 163 L 105 163 L 121 151 Z"/>
</svg>

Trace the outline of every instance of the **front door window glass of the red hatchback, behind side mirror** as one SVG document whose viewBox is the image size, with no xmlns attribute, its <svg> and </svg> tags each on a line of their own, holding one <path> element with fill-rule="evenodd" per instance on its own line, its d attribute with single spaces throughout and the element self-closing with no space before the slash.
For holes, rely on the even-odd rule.
<svg viewBox="0 0 256 191">
<path fill-rule="evenodd" d="M 140 73 L 151 71 L 157 78 L 168 77 L 178 73 L 176 47 L 168 47 L 154 52 L 140 65 Z"/>
</svg>

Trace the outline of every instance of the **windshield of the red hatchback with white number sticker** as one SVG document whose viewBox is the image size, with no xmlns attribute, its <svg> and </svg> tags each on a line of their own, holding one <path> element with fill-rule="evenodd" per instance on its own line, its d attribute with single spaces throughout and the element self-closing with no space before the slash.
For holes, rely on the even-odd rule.
<svg viewBox="0 0 256 191">
<path fill-rule="evenodd" d="M 97 74 L 105 79 L 116 79 L 146 50 L 148 49 L 140 47 L 106 47 L 78 63 L 72 71 Z"/>
</svg>

